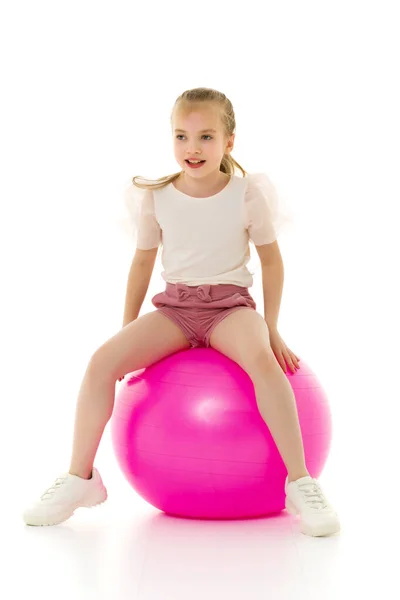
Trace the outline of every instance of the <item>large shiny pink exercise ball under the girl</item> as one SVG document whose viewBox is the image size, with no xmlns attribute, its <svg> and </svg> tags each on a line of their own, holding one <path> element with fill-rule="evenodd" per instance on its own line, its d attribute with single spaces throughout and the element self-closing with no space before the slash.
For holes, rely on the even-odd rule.
<svg viewBox="0 0 400 600">
<path fill-rule="evenodd" d="M 286 376 L 299 413 L 306 465 L 324 467 L 331 414 L 311 369 Z M 129 373 L 115 399 L 118 464 L 144 500 L 167 514 L 240 519 L 285 507 L 287 469 L 256 403 L 254 385 L 213 348 L 191 348 Z"/>
</svg>

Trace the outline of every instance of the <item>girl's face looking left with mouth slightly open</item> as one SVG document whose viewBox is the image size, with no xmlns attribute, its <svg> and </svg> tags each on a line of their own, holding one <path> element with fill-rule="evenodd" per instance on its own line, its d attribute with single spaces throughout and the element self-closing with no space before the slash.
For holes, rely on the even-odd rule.
<svg viewBox="0 0 400 600">
<path fill-rule="evenodd" d="M 203 130 L 214 131 L 203 131 Z M 178 130 L 178 131 L 176 131 Z M 181 130 L 181 131 L 180 131 Z M 218 174 L 224 154 L 231 152 L 235 135 L 224 137 L 219 113 L 214 107 L 200 107 L 189 113 L 177 111 L 173 119 L 174 154 L 185 175 L 204 177 Z M 204 160 L 202 166 L 192 168 L 186 159 Z"/>
</svg>

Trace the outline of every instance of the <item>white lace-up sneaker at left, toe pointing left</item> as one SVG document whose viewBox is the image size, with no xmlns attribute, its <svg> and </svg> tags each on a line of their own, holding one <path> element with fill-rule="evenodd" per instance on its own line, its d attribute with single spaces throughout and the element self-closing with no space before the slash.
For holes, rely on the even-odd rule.
<svg viewBox="0 0 400 600">
<path fill-rule="evenodd" d="M 63 473 L 31 506 L 23 512 L 27 525 L 58 525 L 79 507 L 91 507 L 107 500 L 100 473 L 93 468 L 92 478 Z"/>
</svg>

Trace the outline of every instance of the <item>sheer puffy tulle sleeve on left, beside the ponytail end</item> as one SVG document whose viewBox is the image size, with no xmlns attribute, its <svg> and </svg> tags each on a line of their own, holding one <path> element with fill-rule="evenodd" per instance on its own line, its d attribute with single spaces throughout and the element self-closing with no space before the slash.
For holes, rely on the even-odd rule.
<svg viewBox="0 0 400 600">
<path fill-rule="evenodd" d="M 162 236 L 154 211 L 154 195 L 150 189 L 142 189 L 131 181 L 123 190 L 123 215 L 120 227 L 134 247 L 140 250 L 158 248 Z"/>
</svg>

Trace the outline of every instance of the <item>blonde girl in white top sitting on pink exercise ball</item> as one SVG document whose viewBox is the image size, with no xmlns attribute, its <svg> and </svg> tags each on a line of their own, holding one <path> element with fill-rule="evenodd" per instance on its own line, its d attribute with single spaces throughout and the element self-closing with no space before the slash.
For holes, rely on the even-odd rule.
<svg viewBox="0 0 400 600">
<path fill-rule="evenodd" d="M 69 471 L 24 512 L 24 521 L 55 525 L 78 507 L 104 502 L 107 491 L 93 463 L 112 415 L 116 380 L 179 350 L 211 346 L 254 383 L 260 414 L 287 467 L 286 508 L 300 515 L 303 533 L 336 533 L 337 514 L 307 471 L 295 398 L 284 374 L 286 363 L 295 372 L 300 359 L 277 329 L 283 263 L 276 238 L 286 219 L 275 188 L 266 175 L 248 175 L 232 158 L 236 123 L 224 94 L 208 88 L 184 92 L 171 125 L 181 170 L 153 184 L 134 177 L 128 190 L 131 197 L 134 192 L 138 227 L 123 327 L 87 366 Z M 235 167 L 243 177 L 234 174 Z M 248 290 L 250 240 L 262 268 L 264 318 Z M 156 310 L 138 317 L 160 244 L 166 287 L 152 298 Z"/>
</svg>

